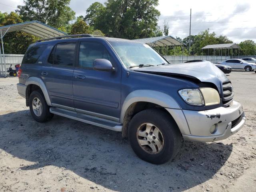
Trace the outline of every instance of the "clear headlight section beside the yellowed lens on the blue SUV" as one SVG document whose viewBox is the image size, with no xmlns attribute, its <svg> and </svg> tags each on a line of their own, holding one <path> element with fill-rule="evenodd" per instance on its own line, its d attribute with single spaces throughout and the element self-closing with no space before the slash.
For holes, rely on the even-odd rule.
<svg viewBox="0 0 256 192">
<path fill-rule="evenodd" d="M 179 94 L 184 101 L 191 105 L 204 105 L 204 98 L 199 89 L 182 89 Z"/>
</svg>

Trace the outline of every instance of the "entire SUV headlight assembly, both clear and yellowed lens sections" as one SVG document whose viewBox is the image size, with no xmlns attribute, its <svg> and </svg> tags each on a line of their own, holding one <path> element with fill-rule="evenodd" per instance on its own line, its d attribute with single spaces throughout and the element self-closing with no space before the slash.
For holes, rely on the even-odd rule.
<svg viewBox="0 0 256 192">
<path fill-rule="evenodd" d="M 213 88 L 182 89 L 179 90 L 180 96 L 188 104 L 196 106 L 209 106 L 220 104 L 220 96 Z"/>
</svg>

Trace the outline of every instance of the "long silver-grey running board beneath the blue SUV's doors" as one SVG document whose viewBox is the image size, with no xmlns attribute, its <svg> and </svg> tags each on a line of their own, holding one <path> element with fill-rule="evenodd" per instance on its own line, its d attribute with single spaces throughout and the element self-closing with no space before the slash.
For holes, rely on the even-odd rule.
<svg viewBox="0 0 256 192">
<path fill-rule="evenodd" d="M 111 120 L 104 120 L 99 117 L 90 116 L 82 113 L 77 113 L 74 111 L 58 108 L 58 107 L 50 107 L 50 112 L 56 115 L 60 115 L 63 117 L 67 117 L 70 119 L 82 121 L 84 123 L 96 125 L 99 127 L 103 127 L 106 129 L 110 129 L 113 131 L 122 131 L 122 124 L 118 122 L 114 122 Z"/>
</svg>

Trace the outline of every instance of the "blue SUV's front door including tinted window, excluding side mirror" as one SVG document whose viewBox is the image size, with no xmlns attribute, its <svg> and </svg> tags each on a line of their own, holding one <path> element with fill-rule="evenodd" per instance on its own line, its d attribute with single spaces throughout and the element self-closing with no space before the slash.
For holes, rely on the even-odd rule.
<svg viewBox="0 0 256 192">
<path fill-rule="evenodd" d="M 93 40 L 80 41 L 73 74 L 74 106 L 76 112 L 119 121 L 121 68 L 107 46 Z M 101 58 L 110 60 L 115 70 L 93 70 L 94 60 Z"/>
</svg>

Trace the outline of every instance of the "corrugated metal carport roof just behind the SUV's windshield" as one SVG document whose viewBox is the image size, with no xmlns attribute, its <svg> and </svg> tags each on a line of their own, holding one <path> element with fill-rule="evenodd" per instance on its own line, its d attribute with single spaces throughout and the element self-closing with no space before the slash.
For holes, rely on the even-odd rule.
<svg viewBox="0 0 256 192">
<path fill-rule="evenodd" d="M 177 40 L 173 36 L 162 36 L 162 37 L 150 37 L 144 39 L 134 39 L 133 41 L 146 43 L 150 46 L 174 46 L 174 45 L 185 45 L 183 42 Z"/>
</svg>

